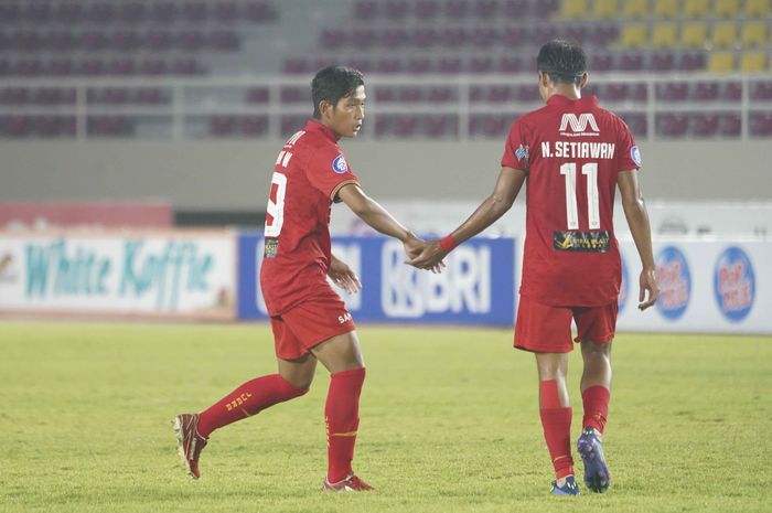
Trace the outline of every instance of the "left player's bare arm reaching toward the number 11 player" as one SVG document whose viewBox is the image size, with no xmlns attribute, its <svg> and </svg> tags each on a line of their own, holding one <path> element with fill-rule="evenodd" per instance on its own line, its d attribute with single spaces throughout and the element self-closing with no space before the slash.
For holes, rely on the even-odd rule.
<svg viewBox="0 0 772 513">
<path fill-rule="evenodd" d="M 408 258 L 420 254 L 425 245 L 423 241 L 403 226 L 375 200 L 365 194 L 358 184 L 350 183 L 344 185 L 337 192 L 337 197 L 340 197 L 362 221 L 367 223 L 368 226 L 384 235 L 399 239 L 405 246 L 405 253 L 407 253 Z M 427 268 L 439 272 L 440 267 L 444 267 L 444 265 L 438 263 Z"/>
</svg>

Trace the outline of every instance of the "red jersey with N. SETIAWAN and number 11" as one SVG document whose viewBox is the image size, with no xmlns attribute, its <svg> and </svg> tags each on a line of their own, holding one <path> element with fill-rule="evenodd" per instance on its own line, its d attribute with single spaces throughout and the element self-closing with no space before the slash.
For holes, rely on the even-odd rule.
<svg viewBox="0 0 772 513">
<path fill-rule="evenodd" d="M 594 96 L 554 95 L 512 125 L 502 165 L 527 173 L 521 295 L 564 307 L 616 301 L 616 173 L 641 165 L 624 121 Z"/>
</svg>

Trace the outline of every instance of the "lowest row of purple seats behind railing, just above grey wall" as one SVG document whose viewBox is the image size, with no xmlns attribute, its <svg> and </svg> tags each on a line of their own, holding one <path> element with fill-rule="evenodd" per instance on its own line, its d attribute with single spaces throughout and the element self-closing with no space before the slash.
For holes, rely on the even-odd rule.
<svg viewBox="0 0 772 513">
<path fill-rule="evenodd" d="M 469 118 L 470 137 L 503 137 L 513 116 L 472 114 Z M 644 113 L 622 111 L 620 116 L 636 137 L 646 137 L 648 127 Z M 131 116 L 89 116 L 86 130 L 89 137 L 130 137 L 137 130 L 138 119 Z M 215 138 L 265 137 L 269 128 L 267 115 L 213 115 L 206 119 L 207 133 Z M 282 135 L 291 135 L 304 119 L 304 116 L 282 116 Z M 667 138 L 737 138 L 741 135 L 741 124 L 739 113 L 662 113 L 655 118 L 657 137 Z M 379 115 L 375 118 L 374 130 L 379 138 L 455 138 L 459 118 L 452 114 Z M 749 132 L 752 137 L 771 137 L 772 114 L 751 113 Z M 3 138 L 72 138 L 75 133 L 74 116 L 0 115 L 0 137 Z"/>
</svg>

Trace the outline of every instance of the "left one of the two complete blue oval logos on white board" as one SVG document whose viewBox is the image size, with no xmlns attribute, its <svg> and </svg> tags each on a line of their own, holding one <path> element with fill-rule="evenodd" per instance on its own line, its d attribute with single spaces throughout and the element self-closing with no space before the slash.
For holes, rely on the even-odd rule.
<svg viewBox="0 0 772 513">
<path fill-rule="evenodd" d="M 691 274 L 684 254 L 674 246 L 665 247 L 656 259 L 660 298 L 656 307 L 666 319 L 675 321 L 689 306 Z"/>
</svg>

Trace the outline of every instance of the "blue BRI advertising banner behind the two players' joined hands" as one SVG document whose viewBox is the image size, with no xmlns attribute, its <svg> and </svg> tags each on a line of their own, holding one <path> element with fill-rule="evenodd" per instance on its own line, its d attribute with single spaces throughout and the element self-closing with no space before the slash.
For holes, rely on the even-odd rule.
<svg viewBox="0 0 772 513">
<path fill-rule="evenodd" d="M 475 238 L 446 259 L 442 274 L 404 264 L 398 241 L 337 237 L 333 254 L 362 280 L 358 295 L 336 289 L 357 322 L 512 325 L 515 239 Z M 238 237 L 238 318 L 267 319 L 259 287 L 262 234 Z"/>
</svg>

